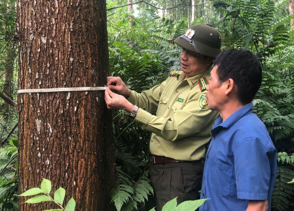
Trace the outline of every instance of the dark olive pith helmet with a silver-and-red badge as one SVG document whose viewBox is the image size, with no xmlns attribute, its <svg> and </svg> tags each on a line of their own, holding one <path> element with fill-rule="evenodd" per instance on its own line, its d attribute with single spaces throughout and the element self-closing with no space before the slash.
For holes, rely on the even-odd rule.
<svg viewBox="0 0 294 211">
<path fill-rule="evenodd" d="M 194 24 L 174 42 L 182 48 L 214 58 L 221 52 L 220 33 L 210 24 Z"/>
</svg>

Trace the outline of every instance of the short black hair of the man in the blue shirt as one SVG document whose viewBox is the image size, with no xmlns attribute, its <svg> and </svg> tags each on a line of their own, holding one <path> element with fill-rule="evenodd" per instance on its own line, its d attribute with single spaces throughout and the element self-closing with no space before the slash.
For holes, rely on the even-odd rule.
<svg viewBox="0 0 294 211">
<path fill-rule="evenodd" d="M 243 105 L 253 100 L 262 80 L 262 68 L 256 55 L 249 50 L 224 50 L 213 61 L 213 65 L 217 65 L 219 83 L 230 78 L 234 80 L 237 97 Z"/>
</svg>

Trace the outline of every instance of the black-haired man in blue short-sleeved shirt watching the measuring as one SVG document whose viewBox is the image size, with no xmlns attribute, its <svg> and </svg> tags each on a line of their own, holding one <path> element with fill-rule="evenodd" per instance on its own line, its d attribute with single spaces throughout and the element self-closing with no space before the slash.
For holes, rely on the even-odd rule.
<svg viewBox="0 0 294 211">
<path fill-rule="evenodd" d="M 223 51 L 214 60 L 206 98 L 218 110 L 206 155 L 200 211 L 270 211 L 277 172 L 277 150 L 252 99 L 262 80 L 256 56 Z"/>
</svg>

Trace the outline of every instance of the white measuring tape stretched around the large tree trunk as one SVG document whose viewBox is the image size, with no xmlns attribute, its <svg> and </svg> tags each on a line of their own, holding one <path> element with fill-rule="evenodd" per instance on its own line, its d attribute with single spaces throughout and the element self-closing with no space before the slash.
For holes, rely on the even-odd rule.
<svg viewBox="0 0 294 211">
<path fill-rule="evenodd" d="M 48 88 L 48 89 L 20 89 L 19 93 L 61 92 L 61 91 L 97 91 L 106 90 L 107 87 L 71 87 L 71 88 Z"/>
</svg>

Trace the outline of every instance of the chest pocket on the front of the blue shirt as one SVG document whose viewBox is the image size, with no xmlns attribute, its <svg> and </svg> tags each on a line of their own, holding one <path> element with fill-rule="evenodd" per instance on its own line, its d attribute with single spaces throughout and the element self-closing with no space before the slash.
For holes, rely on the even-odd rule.
<svg viewBox="0 0 294 211">
<path fill-rule="evenodd" d="M 228 195 L 232 186 L 233 166 L 211 159 L 210 169 L 212 189 L 221 196 Z"/>
</svg>

